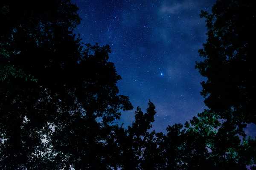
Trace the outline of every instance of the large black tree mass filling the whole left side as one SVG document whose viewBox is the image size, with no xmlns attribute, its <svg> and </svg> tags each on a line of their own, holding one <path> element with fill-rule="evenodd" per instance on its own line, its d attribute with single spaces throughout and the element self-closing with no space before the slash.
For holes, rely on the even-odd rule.
<svg viewBox="0 0 256 170">
<path fill-rule="evenodd" d="M 109 46 L 81 46 L 70 0 L 0 8 L 0 169 L 100 169 L 111 122 L 132 108 Z"/>
</svg>

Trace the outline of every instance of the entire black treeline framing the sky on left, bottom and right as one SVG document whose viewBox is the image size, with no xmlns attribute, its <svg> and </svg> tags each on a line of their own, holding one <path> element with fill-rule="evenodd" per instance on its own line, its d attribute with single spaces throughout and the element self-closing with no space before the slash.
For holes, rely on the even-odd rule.
<svg viewBox="0 0 256 170">
<path fill-rule="evenodd" d="M 83 44 L 70 0 L 0 1 L 1 170 L 256 169 L 255 18 L 252 1 L 217 0 L 196 64 L 209 110 L 166 134 L 138 107 L 127 129 L 113 122 L 133 107 L 108 45 Z"/>
</svg>

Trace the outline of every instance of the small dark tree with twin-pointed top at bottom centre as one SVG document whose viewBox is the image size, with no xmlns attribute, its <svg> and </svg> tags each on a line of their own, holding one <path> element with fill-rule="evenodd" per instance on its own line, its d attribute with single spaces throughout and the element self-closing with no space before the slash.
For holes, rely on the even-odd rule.
<svg viewBox="0 0 256 170">
<path fill-rule="evenodd" d="M 156 114 L 155 106 L 148 102 L 148 109 L 143 113 L 137 107 L 135 121 L 128 129 L 116 128 L 116 143 L 119 146 L 118 167 L 123 170 L 157 170 L 163 167 L 160 148 L 157 146 L 163 133 L 149 132 Z"/>
</svg>

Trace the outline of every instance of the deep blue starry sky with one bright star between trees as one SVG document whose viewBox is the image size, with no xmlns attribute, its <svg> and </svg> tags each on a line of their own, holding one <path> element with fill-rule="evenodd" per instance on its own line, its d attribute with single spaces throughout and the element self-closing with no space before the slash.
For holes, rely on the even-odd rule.
<svg viewBox="0 0 256 170">
<path fill-rule="evenodd" d="M 122 76 L 120 94 L 143 111 L 150 99 L 157 114 L 153 129 L 184 123 L 207 107 L 200 95 L 205 80 L 195 69 L 206 41 L 201 10 L 215 0 L 73 0 L 79 7 L 79 33 L 85 43 L 108 44 L 110 61 Z M 134 109 L 134 110 L 135 110 Z M 134 110 L 120 122 L 131 125 Z"/>
</svg>

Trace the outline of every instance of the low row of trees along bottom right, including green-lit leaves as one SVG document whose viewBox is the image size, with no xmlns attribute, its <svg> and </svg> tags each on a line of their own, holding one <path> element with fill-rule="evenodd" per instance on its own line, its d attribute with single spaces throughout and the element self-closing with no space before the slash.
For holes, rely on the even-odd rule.
<svg viewBox="0 0 256 170">
<path fill-rule="evenodd" d="M 154 120 L 155 113 L 149 102 L 147 113 L 137 108 L 135 122 L 127 130 L 116 127 L 116 169 L 247 170 L 256 163 L 255 140 L 239 136 L 236 124 L 209 110 L 184 126 L 167 127 L 166 134 L 148 131 L 147 120 Z"/>
</svg>

